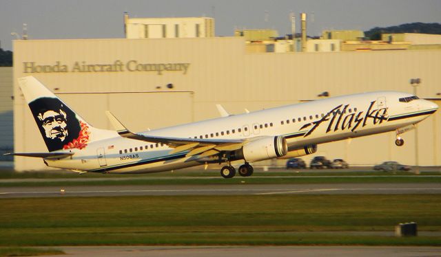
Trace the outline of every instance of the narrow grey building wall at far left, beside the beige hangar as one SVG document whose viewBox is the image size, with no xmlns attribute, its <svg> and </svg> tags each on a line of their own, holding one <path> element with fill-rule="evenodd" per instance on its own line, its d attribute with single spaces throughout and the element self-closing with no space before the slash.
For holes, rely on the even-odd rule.
<svg viewBox="0 0 441 257">
<path fill-rule="evenodd" d="M 0 160 L 14 148 L 12 118 L 12 67 L 0 67 Z"/>
</svg>

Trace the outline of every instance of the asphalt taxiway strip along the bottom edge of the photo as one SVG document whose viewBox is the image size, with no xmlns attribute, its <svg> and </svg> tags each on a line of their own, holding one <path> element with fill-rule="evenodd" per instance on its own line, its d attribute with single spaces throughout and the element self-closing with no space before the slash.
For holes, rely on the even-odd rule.
<svg viewBox="0 0 441 257">
<path fill-rule="evenodd" d="M 180 257 L 250 257 L 250 256 L 440 256 L 440 247 L 363 247 L 363 246 L 81 246 L 56 247 L 68 256 L 180 256 Z M 65 256 L 65 255 L 57 255 Z"/>
</svg>

